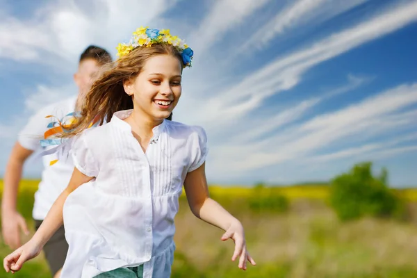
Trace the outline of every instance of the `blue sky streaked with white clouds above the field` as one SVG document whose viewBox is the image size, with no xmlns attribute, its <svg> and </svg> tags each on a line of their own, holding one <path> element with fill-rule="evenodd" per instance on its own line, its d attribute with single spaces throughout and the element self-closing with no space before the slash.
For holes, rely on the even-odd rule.
<svg viewBox="0 0 417 278">
<path fill-rule="evenodd" d="M 0 174 L 27 117 L 76 95 L 89 44 L 137 27 L 195 51 L 174 118 L 206 129 L 211 183 L 326 181 L 361 161 L 417 185 L 417 1 L 0 0 Z M 40 177 L 29 161 L 26 177 Z"/>
</svg>

